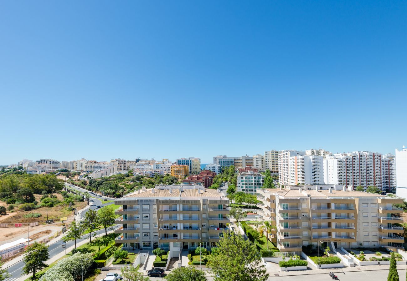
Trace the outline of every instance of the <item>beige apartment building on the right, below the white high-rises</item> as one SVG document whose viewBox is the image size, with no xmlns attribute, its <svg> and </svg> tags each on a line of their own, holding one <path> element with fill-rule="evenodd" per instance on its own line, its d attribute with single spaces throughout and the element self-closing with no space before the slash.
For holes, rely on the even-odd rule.
<svg viewBox="0 0 407 281">
<path fill-rule="evenodd" d="M 345 249 L 404 249 L 403 227 L 395 225 L 403 223 L 403 210 L 393 207 L 402 199 L 340 185 L 258 189 L 257 199 L 276 225 L 274 242 L 282 252 L 300 252 L 301 246 L 318 241 Z"/>
</svg>

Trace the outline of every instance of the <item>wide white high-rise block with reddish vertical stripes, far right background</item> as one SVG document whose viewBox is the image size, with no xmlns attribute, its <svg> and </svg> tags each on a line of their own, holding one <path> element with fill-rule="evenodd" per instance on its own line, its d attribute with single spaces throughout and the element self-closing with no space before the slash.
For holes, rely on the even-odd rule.
<svg viewBox="0 0 407 281">
<path fill-rule="evenodd" d="M 381 153 L 353 151 L 326 156 L 324 160 L 325 184 L 344 186 L 376 186 L 381 190 L 394 188 L 394 160 Z"/>
</svg>

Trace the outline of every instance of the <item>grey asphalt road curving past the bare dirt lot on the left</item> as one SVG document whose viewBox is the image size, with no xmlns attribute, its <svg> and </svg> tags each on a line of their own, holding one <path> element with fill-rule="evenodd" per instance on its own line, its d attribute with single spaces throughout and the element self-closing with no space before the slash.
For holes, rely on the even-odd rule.
<svg viewBox="0 0 407 281">
<path fill-rule="evenodd" d="M 68 185 L 68 184 L 66 184 L 66 185 Z M 73 188 L 73 189 L 76 189 L 76 190 L 80 190 L 80 191 L 82 191 L 82 192 L 87 191 L 87 190 L 84 190 L 83 188 L 78 188 L 77 186 L 70 187 L 70 188 Z M 82 213 L 80 214 L 81 218 L 83 218 L 83 217 L 85 216 L 85 214 L 86 214 L 86 212 L 88 212 L 88 210 L 97 210 L 97 209 L 96 209 L 96 206 L 97 206 L 97 205 L 101 205 L 101 207 L 103 207 L 103 206 L 107 206 L 107 205 L 113 204 L 113 202 L 109 202 L 109 203 L 104 203 L 104 204 L 102 204 L 102 201 L 101 201 L 100 198 L 101 198 L 101 199 L 110 199 L 110 200 L 112 200 L 112 198 L 109 198 L 109 197 L 99 197 L 99 198 L 93 198 L 93 197 L 91 197 L 91 198 L 89 199 L 89 203 L 91 204 L 91 207 L 88 208 L 87 210 L 85 210 L 84 212 L 82 212 Z M 91 200 L 93 200 L 94 202 L 93 202 L 93 203 L 90 202 Z M 117 228 L 117 227 L 118 227 L 118 225 L 115 225 L 113 228 Z M 101 230 L 98 230 L 98 231 L 94 231 L 94 233 L 96 233 L 96 234 L 105 233 L 105 229 L 101 229 Z M 61 247 L 61 240 L 62 240 L 61 238 L 62 238 L 62 237 L 63 237 L 63 236 L 60 236 L 60 239 L 59 239 L 59 240 L 57 240 L 57 241 L 54 242 L 53 244 L 50 244 L 50 246 L 48 247 L 48 254 L 49 254 L 50 257 L 53 257 L 53 256 L 58 255 L 59 253 L 62 253 L 62 252 L 65 251 L 65 250 Z M 79 242 L 81 242 L 81 241 L 83 241 L 83 240 L 87 240 L 87 239 L 89 239 L 89 234 L 83 235 L 83 236 L 82 236 L 82 239 L 77 239 L 77 243 L 79 243 Z M 66 242 L 66 248 L 69 248 L 70 246 L 74 246 L 74 244 L 75 244 L 74 241 L 68 241 L 68 242 Z M 24 275 L 25 275 L 24 272 L 22 271 L 23 266 L 24 266 L 24 262 L 23 262 L 23 261 L 16 262 L 15 264 L 9 266 L 9 273 L 10 273 L 10 275 L 11 275 L 11 278 L 9 279 L 9 281 L 15 281 L 15 280 L 17 280 L 18 278 L 20 278 L 21 276 L 24 276 Z"/>
</svg>

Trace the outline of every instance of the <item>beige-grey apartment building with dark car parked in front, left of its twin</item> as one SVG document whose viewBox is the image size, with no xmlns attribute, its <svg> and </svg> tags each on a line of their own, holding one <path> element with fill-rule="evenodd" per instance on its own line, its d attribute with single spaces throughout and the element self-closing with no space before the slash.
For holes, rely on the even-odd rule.
<svg viewBox="0 0 407 281">
<path fill-rule="evenodd" d="M 121 224 L 116 243 L 123 249 L 171 251 L 214 246 L 229 232 L 229 199 L 213 189 L 194 185 L 157 185 L 115 200 Z"/>
</svg>

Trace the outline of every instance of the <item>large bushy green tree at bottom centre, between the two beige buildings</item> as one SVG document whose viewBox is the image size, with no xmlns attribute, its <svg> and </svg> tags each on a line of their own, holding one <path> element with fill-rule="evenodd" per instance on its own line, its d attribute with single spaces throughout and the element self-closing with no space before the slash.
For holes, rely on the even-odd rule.
<svg viewBox="0 0 407 281">
<path fill-rule="evenodd" d="M 266 281 L 269 278 L 256 246 L 241 235 L 225 234 L 217 247 L 219 254 L 209 256 L 214 281 Z"/>
</svg>

